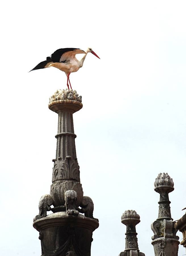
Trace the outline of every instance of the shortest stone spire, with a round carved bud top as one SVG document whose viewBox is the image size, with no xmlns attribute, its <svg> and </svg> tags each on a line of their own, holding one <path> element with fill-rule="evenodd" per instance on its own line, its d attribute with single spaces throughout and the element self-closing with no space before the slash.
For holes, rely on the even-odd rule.
<svg viewBox="0 0 186 256">
<path fill-rule="evenodd" d="M 126 225 L 125 250 L 119 256 L 145 256 L 139 252 L 137 243 L 136 225 L 140 222 L 140 216 L 134 210 L 127 210 L 122 214 L 121 222 Z"/>
</svg>

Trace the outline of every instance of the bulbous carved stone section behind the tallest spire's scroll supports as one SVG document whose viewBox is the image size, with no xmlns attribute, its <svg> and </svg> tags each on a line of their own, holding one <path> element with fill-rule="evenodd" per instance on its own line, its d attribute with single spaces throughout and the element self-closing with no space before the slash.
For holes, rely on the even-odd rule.
<svg viewBox="0 0 186 256">
<path fill-rule="evenodd" d="M 65 205 L 65 192 L 67 190 L 74 190 L 77 193 L 77 207 L 80 206 L 83 189 L 81 183 L 74 180 L 57 180 L 51 185 L 50 194 L 53 198 L 53 206 L 57 207 L 60 205 Z"/>
</svg>

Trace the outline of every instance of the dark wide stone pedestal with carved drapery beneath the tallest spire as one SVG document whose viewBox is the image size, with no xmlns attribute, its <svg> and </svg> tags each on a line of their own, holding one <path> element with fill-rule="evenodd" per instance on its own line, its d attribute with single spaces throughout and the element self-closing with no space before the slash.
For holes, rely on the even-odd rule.
<svg viewBox="0 0 186 256">
<path fill-rule="evenodd" d="M 93 231 L 99 223 L 82 214 L 55 212 L 34 221 L 39 231 L 42 256 L 90 256 Z"/>
</svg>

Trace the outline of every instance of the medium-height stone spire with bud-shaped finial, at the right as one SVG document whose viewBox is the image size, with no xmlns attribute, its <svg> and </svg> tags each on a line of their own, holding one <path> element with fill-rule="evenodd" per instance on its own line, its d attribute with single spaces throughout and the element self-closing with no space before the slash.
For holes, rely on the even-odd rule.
<svg viewBox="0 0 186 256">
<path fill-rule="evenodd" d="M 154 182 L 154 190 L 160 194 L 158 218 L 151 224 L 154 232 L 152 245 L 155 256 L 177 256 L 179 237 L 171 217 L 169 193 L 174 190 L 174 182 L 166 173 L 158 174 Z"/>
</svg>

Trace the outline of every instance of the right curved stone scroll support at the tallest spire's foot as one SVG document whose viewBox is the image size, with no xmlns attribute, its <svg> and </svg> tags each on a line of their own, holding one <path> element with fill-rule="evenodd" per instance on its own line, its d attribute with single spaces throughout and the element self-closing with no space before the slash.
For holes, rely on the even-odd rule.
<svg viewBox="0 0 186 256">
<path fill-rule="evenodd" d="M 82 208 L 79 210 L 79 212 L 84 213 L 85 217 L 97 220 L 99 222 L 98 219 L 93 217 L 94 204 L 90 197 L 83 197 L 80 207 Z"/>
</svg>

